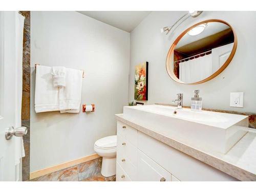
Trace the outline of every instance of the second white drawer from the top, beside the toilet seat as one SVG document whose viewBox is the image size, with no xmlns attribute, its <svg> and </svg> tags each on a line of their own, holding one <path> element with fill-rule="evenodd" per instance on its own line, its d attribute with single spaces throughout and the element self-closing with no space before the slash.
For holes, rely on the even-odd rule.
<svg viewBox="0 0 256 192">
<path fill-rule="evenodd" d="M 137 148 L 122 136 L 117 136 L 117 156 L 129 159 L 133 165 L 137 165 Z"/>
</svg>

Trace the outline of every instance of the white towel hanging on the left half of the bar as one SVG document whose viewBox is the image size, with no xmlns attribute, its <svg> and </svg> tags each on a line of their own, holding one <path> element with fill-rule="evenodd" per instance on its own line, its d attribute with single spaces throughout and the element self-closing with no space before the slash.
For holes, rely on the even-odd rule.
<svg viewBox="0 0 256 192">
<path fill-rule="evenodd" d="M 59 111 L 58 88 L 53 87 L 51 67 L 36 66 L 35 112 Z"/>
</svg>

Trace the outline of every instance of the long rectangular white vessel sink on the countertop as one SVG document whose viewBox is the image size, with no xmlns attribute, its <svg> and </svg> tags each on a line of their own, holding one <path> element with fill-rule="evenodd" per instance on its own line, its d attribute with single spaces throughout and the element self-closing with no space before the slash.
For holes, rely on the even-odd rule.
<svg viewBox="0 0 256 192">
<path fill-rule="evenodd" d="M 164 105 L 124 106 L 125 119 L 202 150 L 225 154 L 248 131 L 248 116 Z"/>
</svg>

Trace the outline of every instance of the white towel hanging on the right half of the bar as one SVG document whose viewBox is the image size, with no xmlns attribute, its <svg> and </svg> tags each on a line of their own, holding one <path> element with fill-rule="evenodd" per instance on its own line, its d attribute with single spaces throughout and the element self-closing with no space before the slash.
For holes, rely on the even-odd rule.
<svg viewBox="0 0 256 192">
<path fill-rule="evenodd" d="M 59 88 L 60 113 L 79 113 L 82 93 L 82 71 L 66 68 L 66 87 Z"/>
</svg>

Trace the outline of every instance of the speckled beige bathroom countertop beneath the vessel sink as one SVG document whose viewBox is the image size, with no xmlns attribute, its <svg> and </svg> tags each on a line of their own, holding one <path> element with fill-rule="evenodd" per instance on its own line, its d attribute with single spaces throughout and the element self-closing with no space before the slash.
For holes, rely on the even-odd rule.
<svg viewBox="0 0 256 192">
<path fill-rule="evenodd" d="M 148 127 L 129 121 L 123 117 L 123 114 L 116 114 L 116 119 L 238 180 L 256 181 L 256 131 L 253 129 L 249 129 L 249 132 L 226 154 L 221 154 L 191 147 Z"/>
</svg>

